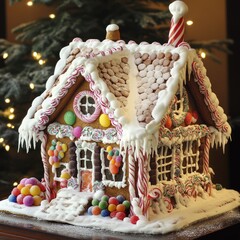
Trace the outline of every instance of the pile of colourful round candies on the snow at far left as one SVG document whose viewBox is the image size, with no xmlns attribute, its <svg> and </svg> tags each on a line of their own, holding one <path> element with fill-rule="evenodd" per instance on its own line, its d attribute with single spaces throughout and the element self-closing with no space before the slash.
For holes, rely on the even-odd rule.
<svg viewBox="0 0 240 240">
<path fill-rule="evenodd" d="M 9 202 L 24 204 L 25 206 L 39 206 L 45 198 L 45 186 L 36 178 L 23 178 L 17 187 L 14 187 Z"/>
</svg>

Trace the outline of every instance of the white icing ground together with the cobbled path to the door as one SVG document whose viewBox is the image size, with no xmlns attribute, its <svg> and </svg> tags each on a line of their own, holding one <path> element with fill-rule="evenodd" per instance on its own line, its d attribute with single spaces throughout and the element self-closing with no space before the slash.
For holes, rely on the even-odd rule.
<svg viewBox="0 0 240 240">
<path fill-rule="evenodd" d="M 101 195 L 101 194 L 100 194 Z M 93 227 L 123 233 L 166 234 L 187 227 L 189 224 L 231 211 L 239 206 L 239 193 L 233 190 L 213 190 L 214 197 L 206 199 L 197 197 L 189 199 L 188 207 L 181 206 L 168 212 L 156 215 L 150 212 L 151 221 L 141 215 L 138 198 L 132 201 L 134 212 L 138 213 L 139 221 L 131 224 L 129 218 L 120 221 L 117 218 L 103 218 L 101 216 L 79 215 L 83 210 L 91 193 L 79 193 L 72 189 L 63 189 L 57 194 L 55 201 L 43 201 L 41 206 L 26 207 L 8 200 L 0 201 L 0 210 L 13 214 L 36 217 L 48 221 L 58 221 L 83 227 Z"/>
</svg>

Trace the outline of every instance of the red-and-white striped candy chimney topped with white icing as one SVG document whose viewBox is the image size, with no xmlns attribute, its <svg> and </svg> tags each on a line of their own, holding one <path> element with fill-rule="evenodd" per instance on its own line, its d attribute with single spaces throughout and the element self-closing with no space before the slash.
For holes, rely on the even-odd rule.
<svg viewBox="0 0 240 240">
<path fill-rule="evenodd" d="M 177 47 L 183 42 L 185 22 L 183 16 L 187 13 L 188 7 L 182 1 L 175 1 L 169 5 L 172 14 L 168 43 Z"/>
</svg>

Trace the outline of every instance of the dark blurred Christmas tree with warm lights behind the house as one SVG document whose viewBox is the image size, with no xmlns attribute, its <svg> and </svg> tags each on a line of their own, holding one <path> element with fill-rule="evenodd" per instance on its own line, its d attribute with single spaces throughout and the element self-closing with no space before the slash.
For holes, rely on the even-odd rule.
<svg viewBox="0 0 240 240">
<path fill-rule="evenodd" d="M 21 0 L 10 0 L 10 4 Z M 59 51 L 75 37 L 104 39 L 105 28 L 116 23 L 126 42 L 160 42 L 168 39 L 171 15 L 168 0 L 33 0 L 27 4 L 55 6 L 48 18 L 13 29 L 16 43 L 0 40 L 4 65 L 0 68 L 0 144 L 16 147 L 18 127 L 32 100 L 45 87 Z M 229 40 L 191 42 L 194 48 L 227 51 Z M 214 56 L 214 55 L 213 55 Z"/>
</svg>

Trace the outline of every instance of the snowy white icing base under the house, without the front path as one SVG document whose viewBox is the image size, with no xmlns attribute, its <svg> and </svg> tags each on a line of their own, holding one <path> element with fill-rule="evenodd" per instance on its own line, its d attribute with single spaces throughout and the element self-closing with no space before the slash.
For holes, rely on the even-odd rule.
<svg viewBox="0 0 240 240">
<path fill-rule="evenodd" d="M 50 204 L 48 204 L 48 207 Z M 54 203 L 52 203 L 52 206 L 53 205 Z M 131 224 L 129 218 L 125 218 L 124 221 L 120 221 L 116 218 L 111 219 L 109 217 L 101 216 L 74 216 L 69 214 L 69 208 L 67 213 L 66 208 L 64 208 L 63 204 L 61 205 L 61 202 L 56 202 L 56 206 L 58 211 L 56 211 L 55 208 L 55 211 L 47 212 L 44 210 L 46 209 L 46 205 L 41 207 L 25 207 L 23 205 L 10 203 L 8 200 L 3 200 L 0 202 L 0 211 L 36 217 L 42 220 L 57 221 L 82 227 L 93 227 L 115 232 L 165 234 L 185 228 L 194 222 L 223 214 L 239 207 L 240 195 L 234 190 L 214 190 L 211 197 L 206 199 L 199 197 L 191 199 L 188 207 L 174 209 L 171 213 L 159 214 L 151 221 L 141 218 L 136 225 Z M 71 209 L 76 209 L 76 206 Z"/>
</svg>

